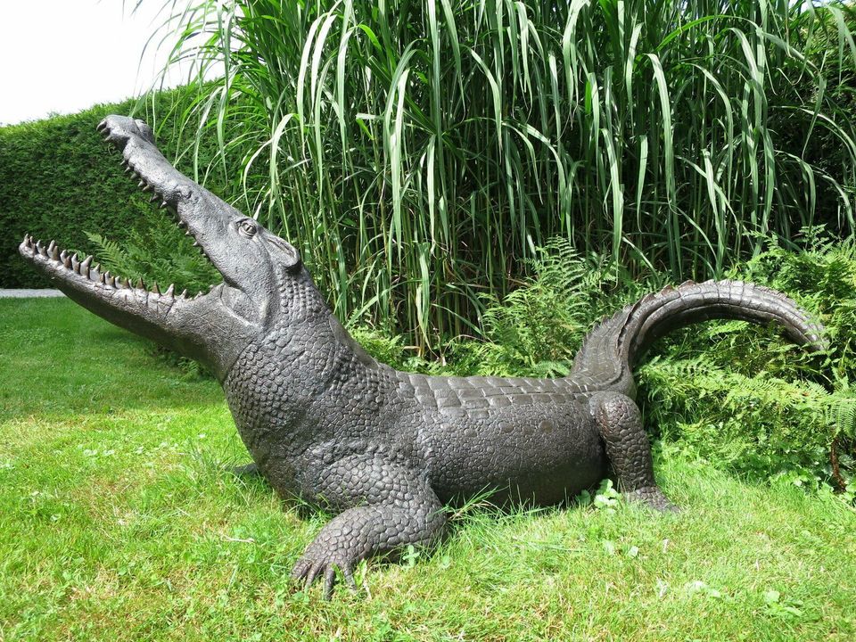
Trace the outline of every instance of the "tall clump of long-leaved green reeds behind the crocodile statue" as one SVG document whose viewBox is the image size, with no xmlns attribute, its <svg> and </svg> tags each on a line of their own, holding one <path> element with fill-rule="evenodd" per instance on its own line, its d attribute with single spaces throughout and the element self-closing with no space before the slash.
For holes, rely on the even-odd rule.
<svg viewBox="0 0 856 642">
<path fill-rule="evenodd" d="M 197 171 L 233 173 L 341 316 L 421 350 L 478 331 L 480 295 L 551 237 L 679 278 L 720 276 L 770 234 L 852 233 L 842 4 L 176 6 L 173 59 L 217 77 L 183 114 L 220 146 Z"/>
</svg>

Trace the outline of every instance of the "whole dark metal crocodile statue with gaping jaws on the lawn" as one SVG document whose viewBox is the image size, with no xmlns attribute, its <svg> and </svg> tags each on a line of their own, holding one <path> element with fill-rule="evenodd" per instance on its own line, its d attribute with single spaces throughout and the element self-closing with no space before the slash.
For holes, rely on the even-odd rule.
<svg viewBox="0 0 856 642">
<path fill-rule="evenodd" d="M 654 481 L 631 366 L 657 337 L 711 318 L 777 322 L 823 348 L 792 300 L 738 281 L 687 282 L 647 295 L 591 331 L 560 379 L 399 372 L 355 342 L 282 238 L 174 169 L 142 120 L 98 126 L 223 277 L 190 298 L 113 276 L 53 241 L 21 255 L 72 300 L 198 359 L 226 392 L 257 470 L 278 494 L 336 514 L 294 564 L 307 588 L 355 564 L 435 541 L 444 506 L 492 490 L 499 501 L 561 504 L 613 473 L 625 496 L 673 510 Z"/>
</svg>

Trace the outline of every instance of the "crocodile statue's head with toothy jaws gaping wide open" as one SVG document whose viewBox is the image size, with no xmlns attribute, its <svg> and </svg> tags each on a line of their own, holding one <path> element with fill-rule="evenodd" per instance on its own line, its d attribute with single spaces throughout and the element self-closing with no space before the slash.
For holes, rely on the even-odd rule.
<svg viewBox="0 0 856 642">
<path fill-rule="evenodd" d="M 108 116 L 98 130 L 121 152 L 122 163 L 139 179 L 152 202 L 161 201 L 192 235 L 202 253 L 223 277 L 207 294 L 190 298 L 172 285 L 161 292 L 154 284 L 131 284 L 103 272 L 92 257 L 70 256 L 53 241 L 24 237 L 24 259 L 51 276 L 62 292 L 100 317 L 202 361 L 225 378 L 248 343 L 268 332 L 278 313 L 284 278 L 309 279 L 300 254 L 252 218 L 197 185 L 154 144 L 142 120 Z"/>
</svg>

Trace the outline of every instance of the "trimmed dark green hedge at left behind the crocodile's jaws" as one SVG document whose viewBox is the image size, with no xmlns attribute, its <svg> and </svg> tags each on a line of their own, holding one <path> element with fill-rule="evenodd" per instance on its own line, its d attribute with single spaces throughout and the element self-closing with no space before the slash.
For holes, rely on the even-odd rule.
<svg viewBox="0 0 856 642">
<path fill-rule="evenodd" d="M 0 287 L 50 283 L 19 256 L 25 233 L 86 253 L 96 249 L 87 232 L 112 240 L 127 237 L 140 208 L 154 205 L 148 205 L 148 195 L 123 173 L 118 153 L 103 143 L 95 126 L 111 113 L 146 119 L 155 128 L 161 150 L 173 161 L 177 151 L 192 144 L 193 137 L 177 130 L 181 119 L 174 117 L 193 107 L 190 95 L 177 89 L 154 95 L 149 103 L 128 100 L 96 105 L 70 116 L 0 128 Z M 154 122 L 152 114 L 161 119 Z M 210 145 L 199 152 L 202 168 L 216 153 L 216 140 L 211 138 Z M 177 163 L 189 176 L 193 176 L 192 157 L 187 153 Z M 226 180 L 210 175 L 206 182 L 212 190 L 228 195 Z"/>
</svg>

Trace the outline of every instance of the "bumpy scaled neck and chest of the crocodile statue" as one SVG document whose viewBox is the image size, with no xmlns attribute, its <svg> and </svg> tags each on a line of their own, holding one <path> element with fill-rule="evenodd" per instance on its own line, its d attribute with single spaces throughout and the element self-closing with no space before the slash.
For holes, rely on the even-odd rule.
<svg viewBox="0 0 856 642">
<path fill-rule="evenodd" d="M 280 283 L 276 323 L 223 382 L 238 432 L 277 490 L 300 488 L 311 450 L 369 436 L 381 400 L 395 391 L 395 371 L 350 337 L 310 279 Z M 334 419 L 343 408 L 346 425 Z"/>
</svg>

